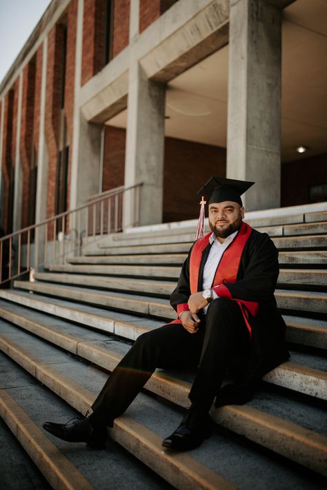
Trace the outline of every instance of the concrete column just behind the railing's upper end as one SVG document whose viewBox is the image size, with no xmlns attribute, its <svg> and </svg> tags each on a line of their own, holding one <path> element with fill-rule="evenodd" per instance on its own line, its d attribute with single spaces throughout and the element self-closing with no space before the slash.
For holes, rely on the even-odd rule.
<svg viewBox="0 0 327 490">
<path fill-rule="evenodd" d="M 164 111 L 166 88 L 150 81 L 137 61 L 130 64 L 125 186 L 141 187 L 140 224 L 161 223 L 164 183 Z M 132 193 L 124 200 L 123 227 L 135 218 Z"/>
</svg>

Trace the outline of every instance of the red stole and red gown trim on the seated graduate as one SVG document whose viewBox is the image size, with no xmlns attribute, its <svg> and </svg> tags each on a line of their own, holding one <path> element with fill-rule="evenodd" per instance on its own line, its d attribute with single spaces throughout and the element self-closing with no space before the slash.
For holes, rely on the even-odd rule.
<svg viewBox="0 0 327 490">
<path fill-rule="evenodd" d="M 232 298 L 228 287 L 225 286 L 225 283 L 236 283 L 237 280 L 237 272 L 239 270 L 239 263 L 241 261 L 241 255 L 243 253 L 244 247 L 248 238 L 252 232 L 252 228 L 247 223 L 242 223 L 241 228 L 237 236 L 234 238 L 232 243 L 227 247 L 219 265 L 217 267 L 217 271 L 215 274 L 215 278 L 212 283 L 212 289 L 215 290 L 219 298 L 228 298 L 230 300 L 234 300 L 237 302 L 239 307 L 241 308 L 241 312 L 244 317 L 244 321 L 246 323 L 246 327 L 251 334 L 251 326 L 250 326 L 250 318 L 248 312 L 255 316 L 258 311 L 258 303 L 254 301 L 246 301 L 240 300 L 237 298 Z M 201 264 L 202 253 L 204 249 L 207 247 L 209 243 L 209 238 L 211 236 L 211 232 L 208 233 L 202 240 L 198 240 L 194 247 L 192 248 L 190 254 L 190 292 L 191 294 L 196 293 L 198 291 L 198 283 L 199 283 L 199 269 Z M 181 312 L 185 312 L 188 310 L 188 304 L 182 303 L 181 305 L 177 305 L 177 315 L 181 314 Z M 177 320 L 174 321 L 176 323 Z M 178 320 L 178 323 L 180 320 Z"/>
</svg>

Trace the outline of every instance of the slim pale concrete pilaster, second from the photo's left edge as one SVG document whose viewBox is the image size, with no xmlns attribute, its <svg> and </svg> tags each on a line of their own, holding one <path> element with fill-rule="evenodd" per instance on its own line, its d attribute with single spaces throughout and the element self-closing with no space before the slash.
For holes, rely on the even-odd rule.
<svg viewBox="0 0 327 490">
<path fill-rule="evenodd" d="M 12 229 L 17 232 L 21 228 L 21 206 L 22 206 L 22 187 L 23 173 L 21 171 L 21 102 L 23 99 L 23 70 L 19 75 L 18 85 L 18 107 L 17 107 L 17 131 L 16 131 L 16 156 L 14 162 L 14 218 Z"/>
</svg>

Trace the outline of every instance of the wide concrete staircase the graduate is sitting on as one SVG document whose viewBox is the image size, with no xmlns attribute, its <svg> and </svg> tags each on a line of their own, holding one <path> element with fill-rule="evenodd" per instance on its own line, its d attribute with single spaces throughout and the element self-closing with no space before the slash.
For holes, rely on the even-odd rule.
<svg viewBox="0 0 327 490">
<path fill-rule="evenodd" d="M 253 212 L 246 221 L 279 248 L 275 296 L 292 357 L 248 404 L 212 409 L 214 436 L 189 453 L 164 451 L 161 440 L 188 407 L 190 372 L 157 370 L 110 429 L 106 451 L 40 427 L 86 412 L 133 340 L 175 318 L 168 297 L 195 223 L 103 237 L 34 283 L 0 291 L 0 415 L 8 444 L 17 438 L 51 487 L 326 488 L 327 206 Z"/>
</svg>

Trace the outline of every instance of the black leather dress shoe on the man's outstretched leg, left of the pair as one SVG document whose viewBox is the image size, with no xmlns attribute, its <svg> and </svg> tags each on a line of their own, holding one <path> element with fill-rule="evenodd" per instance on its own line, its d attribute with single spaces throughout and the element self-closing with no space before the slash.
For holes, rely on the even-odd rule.
<svg viewBox="0 0 327 490">
<path fill-rule="evenodd" d="M 94 429 L 87 417 L 72 418 L 66 424 L 44 422 L 43 429 L 68 442 L 86 442 L 92 449 L 103 449 L 106 445 L 106 427 Z"/>
</svg>

